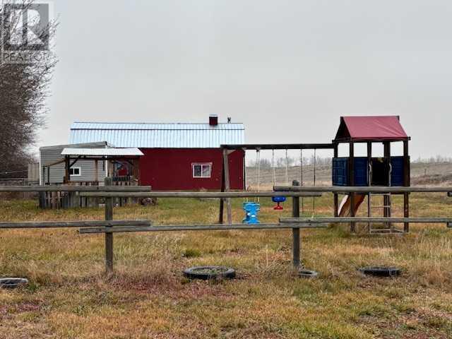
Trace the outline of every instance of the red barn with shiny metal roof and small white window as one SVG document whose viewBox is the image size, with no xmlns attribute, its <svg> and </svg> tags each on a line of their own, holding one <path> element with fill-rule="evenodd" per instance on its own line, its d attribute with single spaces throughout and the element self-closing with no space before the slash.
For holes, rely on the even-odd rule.
<svg viewBox="0 0 452 339">
<path fill-rule="evenodd" d="M 220 190 L 222 144 L 243 144 L 244 125 L 74 122 L 70 143 L 106 141 L 116 148 L 140 148 L 139 181 L 156 191 Z M 244 151 L 229 156 L 231 189 L 244 189 Z"/>
</svg>

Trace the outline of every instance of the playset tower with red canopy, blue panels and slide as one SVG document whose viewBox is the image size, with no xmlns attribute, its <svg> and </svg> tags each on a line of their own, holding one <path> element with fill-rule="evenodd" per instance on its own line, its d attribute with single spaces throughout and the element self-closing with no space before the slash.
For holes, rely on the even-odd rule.
<svg viewBox="0 0 452 339">
<path fill-rule="evenodd" d="M 410 186 L 410 155 L 408 141 L 399 117 L 341 117 L 338 132 L 333 140 L 334 157 L 332 165 L 333 186 Z M 391 156 L 391 145 L 403 142 L 403 156 Z M 349 145 L 347 157 L 338 156 L 340 143 Z M 367 145 L 367 156 L 355 156 L 355 144 Z M 383 157 L 372 157 L 372 144 L 383 143 Z M 383 196 L 383 205 L 372 206 L 374 196 Z M 367 194 L 345 194 L 338 204 L 338 194 L 334 194 L 335 216 L 354 217 L 359 206 L 367 197 L 367 216 L 372 216 L 372 210 L 381 208 L 383 216 L 391 217 L 391 192 Z M 403 216 L 410 216 L 409 193 L 403 193 Z M 355 232 L 355 222 L 351 222 L 350 230 Z M 409 223 L 405 222 L 403 230 L 398 230 L 393 223 L 386 227 L 372 228 L 367 225 L 369 233 L 400 233 L 409 231 Z"/>
</svg>

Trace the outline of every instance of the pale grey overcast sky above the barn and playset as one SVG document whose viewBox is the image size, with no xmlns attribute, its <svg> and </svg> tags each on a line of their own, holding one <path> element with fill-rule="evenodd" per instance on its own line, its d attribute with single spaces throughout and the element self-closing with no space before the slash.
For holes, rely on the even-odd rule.
<svg viewBox="0 0 452 339">
<path fill-rule="evenodd" d="M 247 143 L 328 143 L 397 114 L 412 157 L 452 156 L 452 1 L 54 1 L 38 145 L 73 121 L 243 122 Z"/>
</svg>

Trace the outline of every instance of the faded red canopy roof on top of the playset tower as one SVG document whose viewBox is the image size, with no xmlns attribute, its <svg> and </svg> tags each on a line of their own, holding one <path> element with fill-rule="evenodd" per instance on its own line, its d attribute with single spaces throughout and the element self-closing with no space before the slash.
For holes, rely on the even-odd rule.
<svg viewBox="0 0 452 339">
<path fill-rule="evenodd" d="M 340 117 L 335 141 L 410 140 L 397 116 Z"/>
</svg>

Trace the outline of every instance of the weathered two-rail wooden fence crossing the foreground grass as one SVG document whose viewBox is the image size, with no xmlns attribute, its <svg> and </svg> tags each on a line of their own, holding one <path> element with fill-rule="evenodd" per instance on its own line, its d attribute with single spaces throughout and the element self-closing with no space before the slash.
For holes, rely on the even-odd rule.
<svg viewBox="0 0 452 339">
<path fill-rule="evenodd" d="M 48 227 L 78 227 L 81 234 L 105 233 L 105 267 L 112 273 L 113 234 L 118 232 L 162 232 L 162 231 L 201 231 L 201 230 L 276 230 L 292 229 L 292 264 L 300 265 L 300 229 L 326 228 L 331 222 L 445 222 L 452 224 L 452 218 L 300 218 L 299 198 L 304 196 L 320 196 L 322 192 L 446 192 L 452 196 L 452 187 L 308 187 L 292 186 L 275 187 L 274 192 L 154 192 L 149 186 L 0 186 L 0 191 L 77 191 L 80 196 L 105 198 L 105 220 L 67 221 L 67 222 L 0 222 L 1 229 L 28 229 Z M 149 220 L 113 220 L 115 198 L 243 198 L 243 197 L 292 197 L 292 218 L 280 218 L 279 222 L 257 225 L 165 225 L 153 226 Z"/>
</svg>

